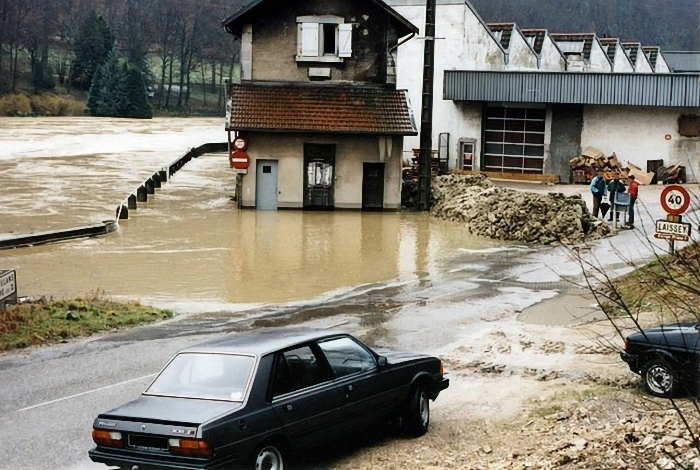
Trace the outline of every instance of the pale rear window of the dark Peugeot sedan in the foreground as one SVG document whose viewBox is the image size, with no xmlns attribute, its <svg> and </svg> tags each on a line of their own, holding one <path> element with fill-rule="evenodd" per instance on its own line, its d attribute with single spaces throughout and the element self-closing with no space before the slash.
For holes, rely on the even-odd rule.
<svg viewBox="0 0 700 470">
<path fill-rule="evenodd" d="M 170 361 L 144 393 L 243 401 L 254 362 L 251 356 L 181 353 Z"/>
</svg>

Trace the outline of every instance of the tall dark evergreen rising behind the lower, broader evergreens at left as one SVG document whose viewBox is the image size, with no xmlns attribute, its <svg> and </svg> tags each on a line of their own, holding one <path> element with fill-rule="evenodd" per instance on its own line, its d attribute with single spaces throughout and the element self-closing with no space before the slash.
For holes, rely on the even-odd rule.
<svg viewBox="0 0 700 470">
<path fill-rule="evenodd" d="M 107 22 L 94 11 L 86 18 L 75 42 L 71 76 L 75 86 L 90 89 L 92 78 L 112 52 L 112 33 Z"/>
</svg>

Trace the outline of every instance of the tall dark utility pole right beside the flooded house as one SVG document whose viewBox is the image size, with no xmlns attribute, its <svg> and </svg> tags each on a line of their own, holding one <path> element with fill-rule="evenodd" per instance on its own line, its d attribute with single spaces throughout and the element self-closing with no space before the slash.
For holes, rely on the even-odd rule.
<svg viewBox="0 0 700 470">
<path fill-rule="evenodd" d="M 430 180 L 433 149 L 433 83 L 435 77 L 436 0 L 426 0 L 425 44 L 423 46 L 423 94 L 420 117 L 420 153 L 418 155 L 418 209 L 430 210 Z"/>
</svg>

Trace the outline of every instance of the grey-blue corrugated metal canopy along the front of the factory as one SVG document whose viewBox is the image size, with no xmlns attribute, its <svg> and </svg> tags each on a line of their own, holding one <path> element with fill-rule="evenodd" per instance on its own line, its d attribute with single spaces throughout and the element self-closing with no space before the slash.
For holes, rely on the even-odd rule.
<svg viewBox="0 0 700 470">
<path fill-rule="evenodd" d="M 452 101 L 700 107 L 700 75 L 445 71 Z"/>
</svg>

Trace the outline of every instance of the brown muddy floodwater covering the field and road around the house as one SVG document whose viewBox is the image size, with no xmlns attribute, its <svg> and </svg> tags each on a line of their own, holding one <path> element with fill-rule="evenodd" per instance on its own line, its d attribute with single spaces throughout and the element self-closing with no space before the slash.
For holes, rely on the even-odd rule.
<svg viewBox="0 0 700 470">
<path fill-rule="evenodd" d="M 113 219 L 155 170 L 225 138 L 217 119 L 0 119 L 0 236 Z M 118 232 L 3 250 L 0 269 L 17 270 L 20 295 L 104 291 L 216 311 L 478 273 L 480 253 L 500 245 L 424 214 L 239 211 L 234 181 L 225 155 L 204 155 Z"/>
</svg>

